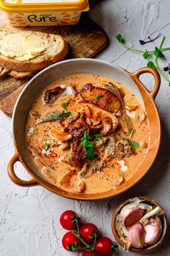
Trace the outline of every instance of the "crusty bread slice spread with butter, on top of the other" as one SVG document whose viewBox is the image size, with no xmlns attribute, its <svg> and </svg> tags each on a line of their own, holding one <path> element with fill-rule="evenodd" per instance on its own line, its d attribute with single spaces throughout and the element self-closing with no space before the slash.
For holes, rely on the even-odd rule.
<svg viewBox="0 0 170 256">
<path fill-rule="evenodd" d="M 0 66 L 15 72 L 36 73 L 64 59 L 67 52 L 61 35 L 0 30 Z"/>
</svg>

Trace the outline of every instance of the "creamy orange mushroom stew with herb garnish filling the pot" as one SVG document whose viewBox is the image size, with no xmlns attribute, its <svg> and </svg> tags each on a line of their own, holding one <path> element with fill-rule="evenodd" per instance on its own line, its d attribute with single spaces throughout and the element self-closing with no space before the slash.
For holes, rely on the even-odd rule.
<svg viewBox="0 0 170 256">
<path fill-rule="evenodd" d="M 121 126 L 122 105 L 120 108 L 115 95 L 113 108 L 120 110 L 111 113 L 105 105 L 99 106 L 102 101 L 105 104 L 105 92 L 96 88 L 104 88 L 108 82 L 120 89 L 128 131 Z M 87 83 L 91 85 L 85 95 Z M 52 89 L 57 87 L 60 92 L 54 93 Z M 97 90 L 95 97 L 90 90 Z M 89 102 L 91 98 L 94 102 Z M 57 111 L 60 120 L 48 121 L 53 111 L 52 116 Z M 135 175 L 146 156 L 149 137 L 148 119 L 135 95 L 120 82 L 97 74 L 71 74 L 51 82 L 37 95 L 25 123 L 30 158 L 42 179 L 69 192 L 86 194 L 106 192 Z M 85 147 L 84 140 L 90 147 Z M 87 157 L 90 148 L 91 159 Z"/>
</svg>

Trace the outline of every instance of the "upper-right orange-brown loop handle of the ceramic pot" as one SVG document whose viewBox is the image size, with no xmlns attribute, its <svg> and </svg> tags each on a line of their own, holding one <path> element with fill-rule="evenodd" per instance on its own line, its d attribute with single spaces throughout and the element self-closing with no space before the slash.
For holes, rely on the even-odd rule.
<svg viewBox="0 0 170 256">
<path fill-rule="evenodd" d="M 133 80 L 138 80 L 138 82 L 140 82 L 139 77 L 140 74 L 144 74 L 144 73 L 150 73 L 153 75 L 154 80 L 155 80 L 155 85 L 153 87 L 153 90 L 148 90 L 146 88 L 145 85 L 143 85 L 146 90 L 148 90 L 149 93 L 151 93 L 152 98 L 156 98 L 156 95 L 158 93 L 158 90 L 160 88 L 160 84 L 161 84 L 161 77 L 160 74 L 158 74 L 158 71 L 156 69 L 153 69 L 152 67 L 142 67 L 141 69 L 138 69 L 137 71 L 131 73 L 131 77 L 133 77 Z"/>
</svg>

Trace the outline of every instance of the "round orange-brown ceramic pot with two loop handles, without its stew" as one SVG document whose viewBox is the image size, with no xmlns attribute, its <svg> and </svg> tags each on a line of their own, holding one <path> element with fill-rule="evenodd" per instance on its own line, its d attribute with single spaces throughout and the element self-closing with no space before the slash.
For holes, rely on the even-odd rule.
<svg viewBox="0 0 170 256">
<path fill-rule="evenodd" d="M 138 168 L 138 171 L 133 175 L 128 182 L 121 184 L 115 189 L 111 189 L 107 192 L 101 192 L 96 194 L 78 194 L 66 192 L 65 190 L 55 187 L 54 185 L 46 182 L 42 177 L 38 175 L 38 171 L 32 166 L 30 156 L 27 152 L 27 147 L 24 141 L 24 123 L 27 117 L 27 113 L 30 109 L 32 102 L 40 91 L 47 86 L 49 82 L 56 80 L 58 77 L 66 76 L 67 74 L 73 74 L 78 72 L 93 73 L 110 77 L 123 85 L 127 86 L 138 98 L 140 104 L 145 108 L 146 114 L 148 115 L 148 124 L 150 129 L 150 142 L 148 145 L 148 151 L 143 164 Z M 140 82 L 140 74 L 150 73 L 153 75 L 155 83 L 153 90 L 149 91 L 142 82 Z M 99 200 L 107 197 L 113 197 L 118 195 L 125 190 L 133 187 L 151 168 L 153 161 L 158 153 L 158 148 L 161 140 L 161 125 L 158 116 L 158 110 L 154 102 L 154 98 L 158 93 L 160 86 L 160 76 L 155 69 L 151 67 L 143 67 L 138 69 L 136 72 L 130 73 L 120 67 L 108 64 L 104 61 L 97 59 L 72 59 L 67 61 L 61 61 L 58 64 L 42 70 L 39 74 L 28 82 L 22 93 L 19 95 L 17 103 L 14 108 L 14 114 L 12 117 L 12 129 L 14 137 L 14 145 L 16 152 L 12 159 L 9 161 L 8 174 L 17 185 L 20 186 L 35 186 L 41 185 L 52 192 L 63 197 L 69 197 L 75 200 Z M 24 181 L 19 179 L 14 172 L 14 163 L 20 161 L 24 168 L 27 169 L 28 173 L 32 177 L 30 181 Z"/>
</svg>

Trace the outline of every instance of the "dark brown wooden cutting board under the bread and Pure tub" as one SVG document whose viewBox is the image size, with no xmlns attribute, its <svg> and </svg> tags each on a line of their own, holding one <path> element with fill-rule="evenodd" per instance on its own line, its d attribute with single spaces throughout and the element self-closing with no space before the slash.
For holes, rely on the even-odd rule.
<svg viewBox="0 0 170 256">
<path fill-rule="evenodd" d="M 91 4 L 99 0 L 91 0 Z M 66 59 L 73 58 L 91 58 L 109 42 L 107 34 L 102 27 L 99 27 L 93 22 L 88 14 L 81 15 L 79 24 L 74 26 L 60 26 L 60 27 L 11 27 L 6 20 L 3 13 L 0 12 L 0 29 L 6 30 L 36 30 L 45 33 L 54 33 L 63 35 L 67 40 L 69 51 Z M 17 101 L 19 93 L 24 88 L 24 85 L 31 78 L 16 79 L 14 77 L 0 78 L 0 108 L 5 114 L 12 116 L 14 103 Z"/>
</svg>

